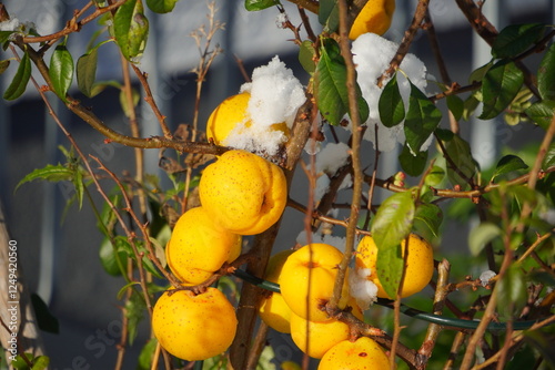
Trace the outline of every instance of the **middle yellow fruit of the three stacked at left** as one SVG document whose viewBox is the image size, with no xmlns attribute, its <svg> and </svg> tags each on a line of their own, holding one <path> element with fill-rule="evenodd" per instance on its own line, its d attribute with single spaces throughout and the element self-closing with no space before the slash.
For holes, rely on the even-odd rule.
<svg viewBox="0 0 555 370">
<path fill-rule="evenodd" d="M 167 261 L 183 282 L 200 284 L 241 254 L 241 239 L 214 224 L 204 207 L 191 208 L 173 228 L 165 247 Z"/>
</svg>

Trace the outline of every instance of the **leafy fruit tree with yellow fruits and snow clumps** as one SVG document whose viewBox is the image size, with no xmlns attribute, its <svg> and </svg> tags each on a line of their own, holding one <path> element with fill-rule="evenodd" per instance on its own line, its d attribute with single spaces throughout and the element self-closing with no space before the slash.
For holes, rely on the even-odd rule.
<svg viewBox="0 0 555 370">
<path fill-rule="evenodd" d="M 204 83 L 226 52 L 214 47 L 226 31 L 209 3 L 193 33 L 195 84 L 185 86 L 195 97 L 180 102 L 192 107 L 180 117 L 188 125 L 167 119 L 141 62 L 149 17 L 179 22 L 172 12 L 185 1 L 73 1 L 49 34 L 0 1 L 3 99 L 33 90 L 67 138 L 64 162 L 12 191 L 69 184 L 68 205 L 97 217 L 98 264 L 121 277 L 115 369 L 555 368 L 555 29 L 497 29 L 486 1 L 455 0 L 491 58 L 454 81 L 436 1 L 414 1 L 394 42 L 394 0 L 244 0 L 242 12 L 275 14 L 297 68 L 281 55 L 252 70 L 238 59 L 244 83 L 206 109 Z M 72 40 L 85 29 L 78 54 Z M 436 76 L 412 48 L 422 34 Z M 100 81 L 99 53 L 110 48 L 123 72 Z M 124 130 L 95 104 L 110 89 Z M 140 96 L 152 120 L 138 113 Z M 54 102 L 134 164 L 111 167 Z M 531 137 L 484 165 L 466 133 L 492 120 Z M 149 125 L 161 134 L 141 134 Z M 158 174 L 144 173 L 147 152 L 159 153 Z M 291 213 L 300 222 L 286 223 Z M 56 354 L 30 341 L 52 320 L 48 307 L 37 296 L 26 315 L 13 306 L 31 295 L 18 280 L 17 243 L 0 248 L 2 364 L 53 368 Z M 138 331 L 148 340 L 130 359 Z M 280 340 L 289 358 L 276 354 Z"/>
</svg>

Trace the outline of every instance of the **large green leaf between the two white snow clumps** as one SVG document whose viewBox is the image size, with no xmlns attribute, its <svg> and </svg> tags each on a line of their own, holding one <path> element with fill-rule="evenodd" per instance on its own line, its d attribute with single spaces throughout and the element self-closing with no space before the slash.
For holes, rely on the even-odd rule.
<svg viewBox="0 0 555 370">
<path fill-rule="evenodd" d="M 320 112 L 330 124 L 340 124 L 343 116 L 349 113 L 346 66 L 339 44 L 332 39 L 323 41 L 314 82 Z M 361 121 L 364 122 L 369 117 L 369 105 L 362 97 L 359 84 L 356 84 L 356 94 Z"/>
</svg>

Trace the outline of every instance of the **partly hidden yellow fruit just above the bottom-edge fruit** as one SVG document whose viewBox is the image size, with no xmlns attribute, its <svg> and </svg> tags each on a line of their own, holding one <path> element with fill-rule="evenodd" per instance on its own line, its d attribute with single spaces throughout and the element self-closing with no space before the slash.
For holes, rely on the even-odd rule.
<svg viewBox="0 0 555 370">
<path fill-rule="evenodd" d="M 292 314 L 291 338 L 301 351 L 321 359 L 330 348 L 349 339 L 349 326 L 335 319 L 323 322 L 307 321 Z"/>
</svg>

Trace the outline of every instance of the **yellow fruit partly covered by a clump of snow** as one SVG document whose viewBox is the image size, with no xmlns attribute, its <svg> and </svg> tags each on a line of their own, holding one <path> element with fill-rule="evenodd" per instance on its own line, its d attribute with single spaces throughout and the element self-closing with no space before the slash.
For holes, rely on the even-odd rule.
<svg viewBox="0 0 555 370">
<path fill-rule="evenodd" d="M 213 140 L 216 145 L 228 145 L 226 138 L 233 130 L 241 133 L 243 126 L 250 127 L 252 122 L 246 112 L 250 99 L 251 94 L 243 92 L 220 103 L 206 122 L 206 137 Z M 285 137 L 290 136 L 290 130 L 284 122 L 273 124 L 270 129 L 282 131 Z"/>
</svg>

